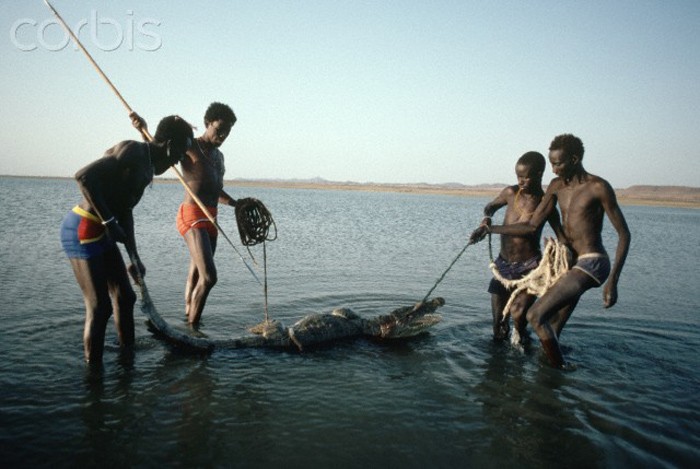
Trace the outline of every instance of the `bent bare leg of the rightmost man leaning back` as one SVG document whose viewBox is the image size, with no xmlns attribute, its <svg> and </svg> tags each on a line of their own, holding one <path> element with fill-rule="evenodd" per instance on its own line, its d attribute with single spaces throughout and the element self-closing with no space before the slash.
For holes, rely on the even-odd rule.
<svg viewBox="0 0 700 469">
<path fill-rule="evenodd" d="M 564 308 L 568 308 L 568 315 L 566 316 L 566 319 L 568 319 L 583 292 L 592 286 L 594 286 L 594 281 L 588 275 L 576 269 L 570 270 L 536 301 L 527 312 L 527 319 L 540 338 L 544 352 L 552 365 L 557 368 L 563 366 L 564 357 L 559 348 L 557 332 L 549 321 Z M 563 323 L 565 322 L 566 320 L 563 321 Z M 563 323 L 561 321 L 557 322 L 558 326 L 561 327 L 563 327 Z M 561 328 L 559 332 L 561 332 Z"/>
</svg>

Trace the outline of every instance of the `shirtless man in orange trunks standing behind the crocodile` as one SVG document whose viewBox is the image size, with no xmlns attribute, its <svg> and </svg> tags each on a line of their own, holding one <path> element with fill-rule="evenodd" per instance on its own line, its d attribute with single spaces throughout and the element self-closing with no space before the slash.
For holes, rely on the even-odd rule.
<svg viewBox="0 0 700 469">
<path fill-rule="evenodd" d="M 236 201 L 224 190 L 224 155 L 219 147 L 226 140 L 236 116 L 225 104 L 212 103 L 204 114 L 205 130 L 181 163 L 183 177 L 190 189 L 216 217 L 218 204 L 234 207 Z M 214 252 L 217 227 L 199 208 L 189 192 L 177 214 L 177 228 L 190 251 L 190 267 L 185 285 L 185 314 L 197 326 L 209 292 L 217 281 Z"/>
</svg>

